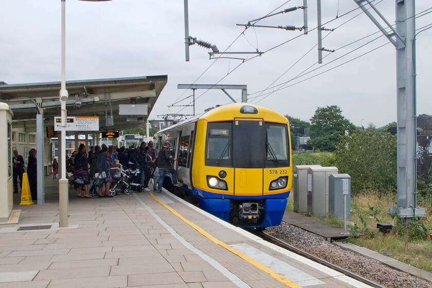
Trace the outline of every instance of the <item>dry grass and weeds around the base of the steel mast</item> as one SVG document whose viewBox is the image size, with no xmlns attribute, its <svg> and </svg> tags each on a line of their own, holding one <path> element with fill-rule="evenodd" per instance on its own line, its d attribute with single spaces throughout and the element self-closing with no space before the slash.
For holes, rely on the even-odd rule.
<svg viewBox="0 0 432 288">
<path fill-rule="evenodd" d="M 351 198 L 351 231 L 365 236 L 353 237 L 349 242 L 387 255 L 412 266 L 432 271 L 432 245 L 429 233 L 432 230 L 430 207 L 432 202 L 421 197 L 418 205 L 429 207 L 426 217 L 406 225 L 398 217 L 392 219 L 388 207 L 396 202 L 392 191 L 383 193 L 377 190 L 365 190 Z M 376 228 L 377 223 L 388 223 L 394 227 L 388 233 Z"/>
</svg>

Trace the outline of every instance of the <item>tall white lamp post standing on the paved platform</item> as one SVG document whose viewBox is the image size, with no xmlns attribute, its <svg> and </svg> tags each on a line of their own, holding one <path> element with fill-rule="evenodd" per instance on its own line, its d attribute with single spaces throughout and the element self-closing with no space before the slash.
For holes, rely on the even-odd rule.
<svg viewBox="0 0 432 288">
<path fill-rule="evenodd" d="M 111 0 L 80 0 L 80 1 L 92 1 L 92 2 L 102 2 L 102 1 L 111 1 Z M 60 88 L 60 102 L 62 104 L 62 136 L 61 136 L 61 168 L 62 175 L 59 180 L 59 226 L 67 227 L 68 226 L 68 203 L 69 203 L 69 189 L 68 189 L 68 181 L 66 178 L 66 100 L 68 98 L 68 92 L 66 90 L 66 0 L 61 0 L 62 2 L 62 81 Z"/>
</svg>

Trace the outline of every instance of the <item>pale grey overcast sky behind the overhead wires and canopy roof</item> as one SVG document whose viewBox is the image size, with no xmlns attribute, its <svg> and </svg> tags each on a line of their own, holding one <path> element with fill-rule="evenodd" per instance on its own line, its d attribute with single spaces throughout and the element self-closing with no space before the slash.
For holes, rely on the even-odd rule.
<svg viewBox="0 0 432 288">
<path fill-rule="evenodd" d="M 258 49 L 266 52 L 261 57 L 231 55 L 247 59 L 244 62 L 209 60 L 209 50 L 195 44 L 190 47 L 190 62 L 186 62 L 182 0 L 101 3 L 67 0 L 66 80 L 168 75 L 168 84 L 150 119 L 166 113 L 192 114 L 192 107 L 168 106 L 190 104 L 192 98 L 187 97 L 192 92 L 177 89 L 177 84 L 195 83 L 247 85 L 248 102 L 301 120 L 309 121 L 317 107 L 337 105 L 357 126 L 373 123 L 382 127 L 396 121 L 394 46 L 360 9 L 356 9 L 358 6 L 353 0 L 326 0 L 322 1 L 321 8 L 323 26 L 337 29 L 322 32 L 322 37 L 326 37 L 322 46 L 336 51 L 323 52 L 323 63 L 317 64 L 317 31 L 314 29 L 317 4 L 314 0 L 308 2 L 310 32 L 302 35 L 298 30 L 245 30 L 236 24 L 302 6 L 303 0 L 189 0 L 189 35 L 216 45 L 220 51 Z M 395 1 L 376 0 L 374 3 L 393 24 Z M 430 11 L 430 0 L 417 1 L 416 13 L 424 15 L 416 20 L 417 32 L 432 24 L 432 13 L 426 14 Z M 329 21 L 332 22 L 327 23 Z M 2 0 L 0 81 L 8 84 L 60 81 L 60 25 L 60 0 Z M 303 11 L 272 16 L 257 25 L 301 27 Z M 432 29 L 417 36 L 418 115 L 432 114 L 430 47 Z M 241 98 L 240 91 L 227 92 L 235 99 Z M 230 102 L 220 90 L 197 90 L 195 95 L 196 114 Z"/>
</svg>

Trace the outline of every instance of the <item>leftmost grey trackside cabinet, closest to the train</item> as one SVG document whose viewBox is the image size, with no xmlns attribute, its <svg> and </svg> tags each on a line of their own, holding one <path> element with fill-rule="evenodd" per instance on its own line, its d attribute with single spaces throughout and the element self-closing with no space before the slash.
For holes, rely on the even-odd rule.
<svg viewBox="0 0 432 288">
<path fill-rule="evenodd" d="M 308 168 L 321 165 L 297 165 L 293 167 L 294 212 L 305 215 L 308 213 Z"/>
</svg>

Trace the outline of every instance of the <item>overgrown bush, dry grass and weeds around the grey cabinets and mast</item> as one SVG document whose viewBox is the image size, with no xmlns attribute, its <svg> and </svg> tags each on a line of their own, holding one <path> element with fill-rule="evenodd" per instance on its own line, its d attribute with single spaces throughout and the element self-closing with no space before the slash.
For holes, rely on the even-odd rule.
<svg viewBox="0 0 432 288">
<path fill-rule="evenodd" d="M 419 179 L 417 205 L 426 209 L 426 217 L 408 225 L 388 215 L 388 208 L 397 202 L 396 140 L 389 134 L 373 131 L 355 132 L 341 138 L 337 150 L 304 152 L 293 155 L 293 165 L 336 166 L 340 173 L 351 176 L 351 232 L 364 236 L 347 241 L 375 250 L 404 263 L 432 271 L 432 170 L 429 181 Z M 292 210 L 292 196 L 289 207 Z M 340 218 L 323 219 L 343 226 Z M 393 229 L 382 233 L 377 223 L 388 223 Z"/>
</svg>

